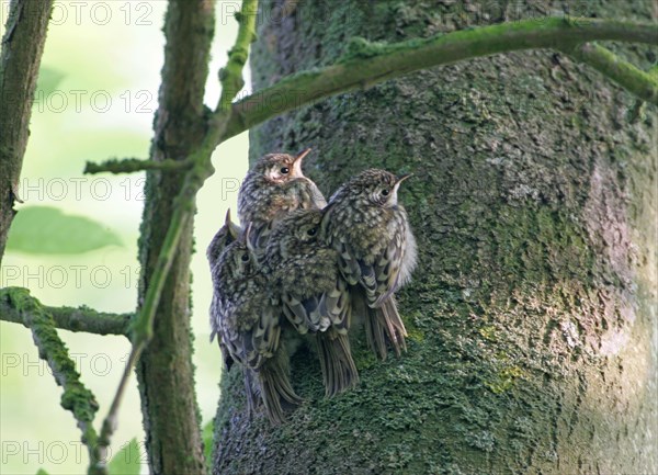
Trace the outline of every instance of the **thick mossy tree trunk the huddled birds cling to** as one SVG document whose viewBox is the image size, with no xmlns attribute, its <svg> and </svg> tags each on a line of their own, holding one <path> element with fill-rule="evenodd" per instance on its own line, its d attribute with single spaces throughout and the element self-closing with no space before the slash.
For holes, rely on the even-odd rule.
<svg viewBox="0 0 658 475">
<path fill-rule="evenodd" d="M 307 0 L 282 19 L 268 4 L 254 90 L 329 64 L 352 36 L 399 41 L 566 9 Z M 649 1 L 578 9 L 655 14 Z M 644 68 L 656 59 L 615 50 Z M 408 353 L 378 362 L 353 335 L 355 391 L 324 398 L 316 359 L 297 353 L 292 382 L 306 403 L 271 427 L 248 420 L 239 369 L 224 377 L 214 473 L 658 472 L 657 115 L 632 110 L 598 72 L 540 50 L 423 71 L 252 131 L 251 159 L 313 146 L 306 170 L 324 192 L 367 167 L 415 172 L 400 199 L 420 265 L 399 295 Z"/>
</svg>

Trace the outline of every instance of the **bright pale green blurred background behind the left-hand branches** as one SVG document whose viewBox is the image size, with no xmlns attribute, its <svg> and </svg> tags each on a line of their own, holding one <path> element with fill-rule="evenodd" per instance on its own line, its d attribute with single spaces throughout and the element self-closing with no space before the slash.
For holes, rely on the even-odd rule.
<svg viewBox="0 0 658 475">
<path fill-rule="evenodd" d="M 106 24 L 101 24 L 104 23 L 103 10 L 98 9 L 95 16 L 92 15 L 91 9 L 99 2 L 79 4 L 79 21 L 75 3 L 58 2 L 48 30 L 38 102 L 33 110 L 21 179 L 25 203 L 16 206 L 21 213 L 14 220 L 2 260 L 0 287 L 25 286 L 48 305 L 88 305 L 104 312 L 133 312 L 139 275 L 137 238 L 144 207 L 144 173 L 83 176 L 82 170 L 86 161 L 102 161 L 109 158 L 107 154 L 148 156 L 163 60 L 161 29 L 167 2 L 135 2 L 129 9 L 123 1 L 100 2 L 111 8 Z M 217 27 L 222 34 L 213 43 L 213 70 L 226 63 L 226 52 L 237 31 L 232 12 L 239 4 L 217 2 Z M 9 2 L 2 1 L 0 5 L 1 36 Z M 91 101 L 94 93 L 98 103 Z M 79 109 L 76 95 L 80 98 Z M 111 98 L 112 106 L 104 111 L 106 97 Z M 218 97 L 219 84 L 216 76 L 211 75 L 206 102 L 216 102 Z M 223 144 L 215 154 L 230 159 L 223 160 L 198 195 L 194 236 L 202 251 L 196 252 L 192 261 L 192 326 L 197 396 L 204 423 L 214 417 L 219 397 L 219 353 L 215 344 L 208 343 L 207 308 L 212 287 L 203 250 L 223 222 L 226 208 L 235 210 L 235 186 L 247 169 L 247 134 Z M 36 206 L 92 219 L 100 224 L 102 236 L 94 244 L 89 227 L 76 233 L 69 223 L 64 226 L 61 217 L 54 213 L 46 218 L 26 216 L 29 210 Z M 45 229 L 48 231 L 43 233 Z M 106 245 L 103 238 L 116 244 Z M 57 246 L 53 240 L 57 240 Z M 92 249 L 82 252 L 89 247 Z M 106 408 L 131 350 L 129 342 L 115 336 L 65 330 L 59 335 L 80 363 L 82 381 L 97 395 L 101 408 Z M 88 460 L 80 443 L 80 431 L 71 415 L 61 410 L 61 388 L 48 365 L 38 359 L 31 332 L 22 326 L 0 321 L 0 443 L 3 449 L 0 472 L 34 474 L 39 467 L 47 468 L 49 474 L 86 471 Z M 132 378 L 112 452 L 116 453 L 137 438 L 146 470 L 136 386 L 136 380 Z M 13 449 L 14 442 L 19 443 L 19 453 L 12 455 L 11 450 L 4 449 Z M 29 452 L 31 450 L 34 452 Z"/>
</svg>

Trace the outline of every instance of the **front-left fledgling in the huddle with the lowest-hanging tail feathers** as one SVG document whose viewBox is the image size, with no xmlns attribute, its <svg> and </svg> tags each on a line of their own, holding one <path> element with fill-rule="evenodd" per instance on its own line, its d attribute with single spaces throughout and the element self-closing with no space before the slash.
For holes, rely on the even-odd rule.
<svg viewBox="0 0 658 475">
<path fill-rule="evenodd" d="M 288 355 L 281 344 L 285 317 L 272 303 L 268 275 L 248 246 L 248 234 L 229 244 L 213 268 L 212 318 L 223 348 L 245 369 L 250 410 L 256 380 L 269 419 L 280 423 L 285 419 L 284 408 L 300 398 L 288 381 Z"/>
</svg>

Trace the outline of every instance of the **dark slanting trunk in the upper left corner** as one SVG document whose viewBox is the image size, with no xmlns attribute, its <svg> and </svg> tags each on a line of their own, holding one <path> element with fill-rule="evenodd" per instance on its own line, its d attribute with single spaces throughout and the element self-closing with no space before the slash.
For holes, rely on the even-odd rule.
<svg viewBox="0 0 658 475">
<path fill-rule="evenodd" d="M 2 38 L 0 58 L 0 262 L 16 212 L 19 179 L 30 136 L 30 116 L 36 89 L 50 0 L 13 0 Z"/>
</svg>

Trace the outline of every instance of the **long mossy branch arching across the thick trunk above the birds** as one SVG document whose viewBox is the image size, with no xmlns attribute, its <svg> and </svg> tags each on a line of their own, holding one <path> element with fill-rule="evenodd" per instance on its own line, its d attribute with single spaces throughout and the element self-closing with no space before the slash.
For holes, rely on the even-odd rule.
<svg viewBox="0 0 658 475">
<path fill-rule="evenodd" d="M 219 142 L 287 111 L 419 69 L 523 49 L 560 49 L 590 41 L 657 45 L 658 26 L 555 18 L 481 26 L 397 44 L 355 38 L 336 65 L 288 76 L 235 103 Z"/>
</svg>

